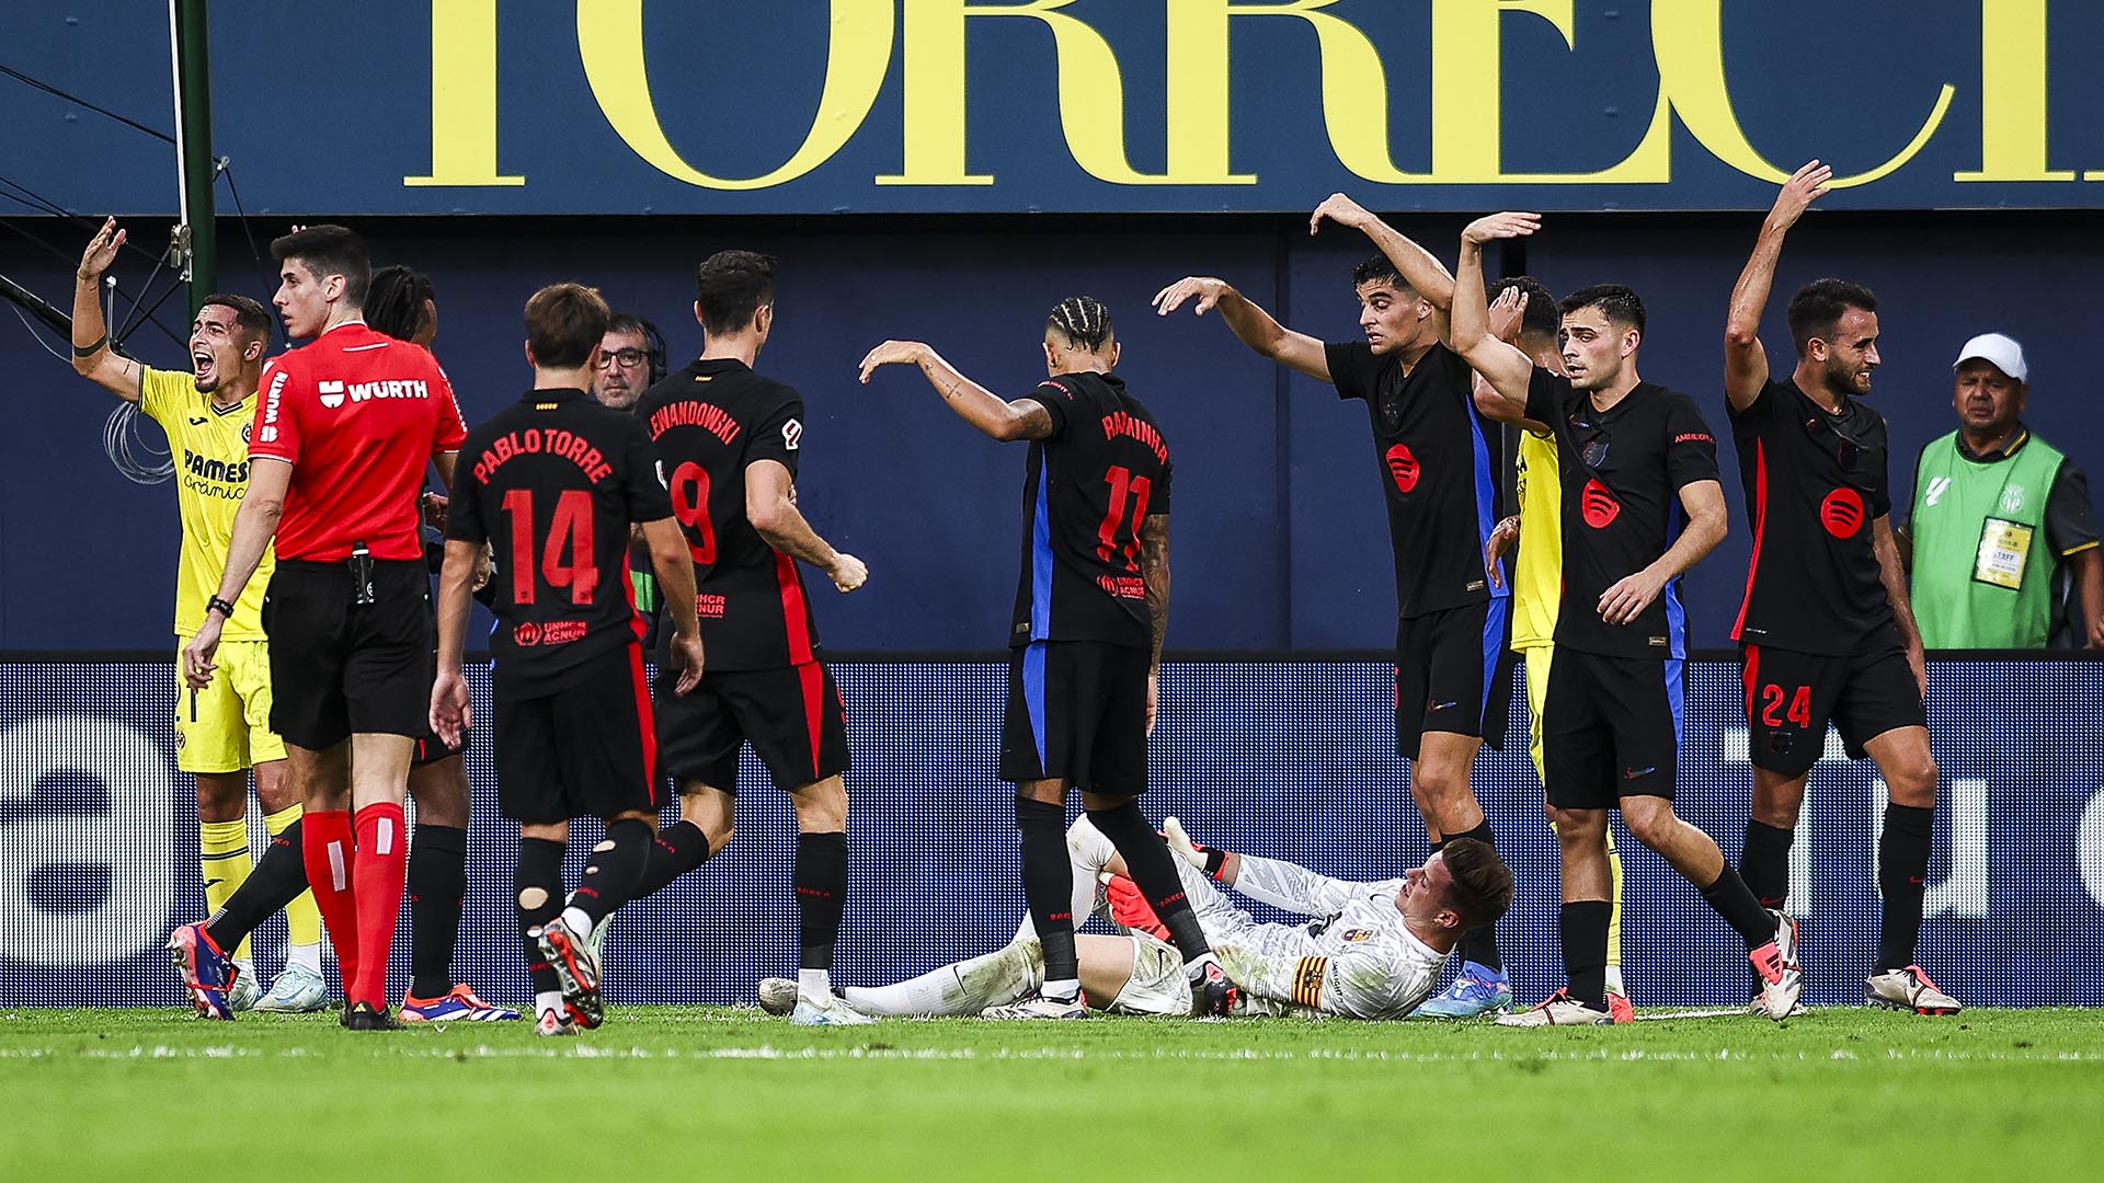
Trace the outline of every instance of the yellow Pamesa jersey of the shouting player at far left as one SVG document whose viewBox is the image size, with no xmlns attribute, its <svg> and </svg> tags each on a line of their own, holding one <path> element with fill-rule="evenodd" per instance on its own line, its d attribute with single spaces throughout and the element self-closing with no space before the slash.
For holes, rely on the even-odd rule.
<svg viewBox="0 0 2104 1183">
<path fill-rule="evenodd" d="M 198 394 L 185 373 L 139 368 L 139 410 L 168 432 L 168 453 L 175 459 L 177 512 L 183 518 L 183 558 L 175 570 L 175 636 L 198 631 L 204 602 L 219 589 L 227 570 L 227 547 L 234 541 L 234 512 L 248 493 L 248 425 L 255 421 L 257 396 L 240 406 L 215 408 L 213 396 Z M 263 640 L 263 589 L 276 558 L 263 552 L 263 564 L 234 604 L 225 640 Z"/>
</svg>

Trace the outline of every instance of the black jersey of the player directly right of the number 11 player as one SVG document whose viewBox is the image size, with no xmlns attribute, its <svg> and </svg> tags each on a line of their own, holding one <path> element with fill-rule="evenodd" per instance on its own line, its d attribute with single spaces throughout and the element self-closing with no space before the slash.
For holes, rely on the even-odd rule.
<svg viewBox="0 0 2104 1183">
<path fill-rule="evenodd" d="M 1490 442 L 1500 427 L 1475 408 L 1469 362 L 1433 345 L 1405 375 L 1401 360 L 1363 341 L 1323 345 L 1323 356 L 1338 398 L 1365 400 L 1374 425 L 1397 615 L 1511 596 L 1513 581 L 1492 585 L 1483 566 L 1483 545 L 1498 524 Z"/>
</svg>

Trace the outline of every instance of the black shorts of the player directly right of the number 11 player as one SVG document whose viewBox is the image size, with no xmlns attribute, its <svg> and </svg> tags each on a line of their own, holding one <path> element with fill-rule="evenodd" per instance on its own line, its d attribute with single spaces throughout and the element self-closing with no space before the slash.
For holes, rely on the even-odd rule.
<svg viewBox="0 0 2104 1183">
<path fill-rule="evenodd" d="M 1509 598 L 1403 617 L 1395 625 L 1395 754 L 1416 760 L 1427 730 L 1504 749 L 1513 709 Z"/>
</svg>

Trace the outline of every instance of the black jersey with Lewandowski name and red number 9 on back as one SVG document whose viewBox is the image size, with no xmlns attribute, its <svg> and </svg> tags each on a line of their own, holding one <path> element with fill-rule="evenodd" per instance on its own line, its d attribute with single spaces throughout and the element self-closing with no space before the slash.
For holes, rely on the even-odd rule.
<svg viewBox="0 0 2104 1183">
<path fill-rule="evenodd" d="M 644 392 L 635 417 L 656 444 L 671 509 L 694 556 L 694 604 L 709 669 L 818 661 L 818 625 L 795 560 L 745 516 L 745 469 L 797 474 L 804 398 L 734 358 L 707 358 Z"/>
</svg>

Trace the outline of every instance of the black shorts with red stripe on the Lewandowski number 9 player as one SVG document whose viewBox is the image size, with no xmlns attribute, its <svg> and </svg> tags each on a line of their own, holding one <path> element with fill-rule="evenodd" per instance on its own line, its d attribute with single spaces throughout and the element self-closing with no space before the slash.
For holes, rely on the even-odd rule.
<svg viewBox="0 0 2104 1183">
<path fill-rule="evenodd" d="M 675 680 L 659 671 L 659 749 L 682 787 L 736 796 L 745 743 L 783 791 L 848 770 L 848 707 L 825 663 L 705 671 L 692 695 L 675 695 Z"/>
</svg>

